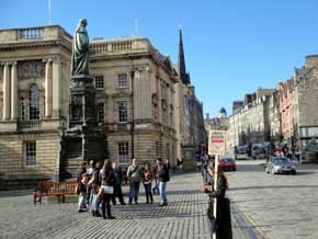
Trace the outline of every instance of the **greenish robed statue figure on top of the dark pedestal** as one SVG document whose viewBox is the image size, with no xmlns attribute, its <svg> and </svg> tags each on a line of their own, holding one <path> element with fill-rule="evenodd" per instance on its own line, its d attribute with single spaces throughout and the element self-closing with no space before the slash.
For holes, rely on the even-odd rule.
<svg viewBox="0 0 318 239">
<path fill-rule="evenodd" d="M 88 21 L 81 19 L 73 34 L 71 55 L 71 76 L 89 75 L 89 36 L 86 30 Z"/>
</svg>

